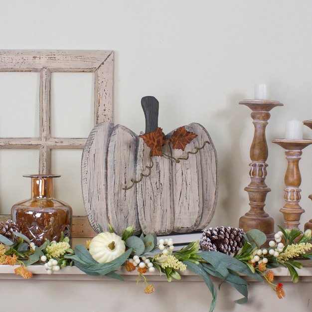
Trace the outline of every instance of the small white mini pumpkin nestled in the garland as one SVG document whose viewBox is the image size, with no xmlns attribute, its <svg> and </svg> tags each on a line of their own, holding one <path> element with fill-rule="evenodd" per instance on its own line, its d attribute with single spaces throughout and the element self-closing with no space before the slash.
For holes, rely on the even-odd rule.
<svg viewBox="0 0 312 312">
<path fill-rule="evenodd" d="M 113 261 L 125 252 L 125 242 L 115 233 L 104 232 L 95 236 L 89 252 L 92 258 L 99 263 Z"/>
</svg>

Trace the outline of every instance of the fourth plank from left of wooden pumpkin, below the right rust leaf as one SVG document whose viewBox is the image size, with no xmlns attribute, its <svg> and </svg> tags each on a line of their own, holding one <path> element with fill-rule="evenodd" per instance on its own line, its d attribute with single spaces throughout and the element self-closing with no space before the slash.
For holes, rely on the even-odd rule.
<svg viewBox="0 0 312 312">
<path fill-rule="evenodd" d="M 185 126 L 187 131 L 194 132 L 190 126 Z M 167 135 L 172 136 L 174 131 Z M 184 152 L 173 149 L 170 143 L 169 153 L 178 158 L 185 156 L 187 152 L 194 152 L 197 146 L 197 138 L 193 139 L 186 147 Z M 202 212 L 202 189 L 201 184 L 200 156 L 190 155 L 187 160 L 180 162 L 170 161 L 171 163 L 171 192 L 172 205 L 174 209 L 174 232 L 191 232 L 200 220 Z"/>
</svg>

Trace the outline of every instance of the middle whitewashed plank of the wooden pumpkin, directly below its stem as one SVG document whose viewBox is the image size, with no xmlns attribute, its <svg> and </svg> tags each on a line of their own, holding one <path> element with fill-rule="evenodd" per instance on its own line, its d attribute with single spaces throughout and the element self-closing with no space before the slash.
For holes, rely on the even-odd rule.
<svg viewBox="0 0 312 312">
<path fill-rule="evenodd" d="M 151 165 L 150 148 L 139 138 L 136 179 L 140 173 L 147 174 Z M 163 147 L 170 154 L 168 146 Z M 173 207 L 171 205 L 170 160 L 153 156 L 151 175 L 137 184 L 138 214 L 145 234 L 169 234 L 173 230 Z"/>
</svg>

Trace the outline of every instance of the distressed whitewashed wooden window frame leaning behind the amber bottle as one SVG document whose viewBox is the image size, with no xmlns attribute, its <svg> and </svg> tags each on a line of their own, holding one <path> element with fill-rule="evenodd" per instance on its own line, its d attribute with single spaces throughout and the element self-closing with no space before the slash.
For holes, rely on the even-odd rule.
<svg viewBox="0 0 312 312">
<path fill-rule="evenodd" d="M 0 72 L 8 71 L 40 73 L 39 138 L 0 138 L 0 149 L 38 149 L 39 173 L 50 173 L 51 149 L 83 149 L 87 140 L 51 137 L 52 72 L 94 72 L 94 125 L 112 121 L 113 51 L 0 50 Z"/>
</svg>

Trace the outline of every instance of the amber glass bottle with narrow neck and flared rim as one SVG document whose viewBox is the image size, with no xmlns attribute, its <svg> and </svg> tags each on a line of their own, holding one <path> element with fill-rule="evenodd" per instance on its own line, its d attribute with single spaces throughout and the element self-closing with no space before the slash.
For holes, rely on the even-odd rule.
<svg viewBox="0 0 312 312">
<path fill-rule="evenodd" d="M 72 209 L 53 198 L 53 178 L 60 175 L 23 175 L 31 178 L 31 198 L 16 203 L 11 209 L 11 219 L 22 234 L 36 246 L 46 239 L 58 241 L 61 232 L 71 242 Z"/>
</svg>

